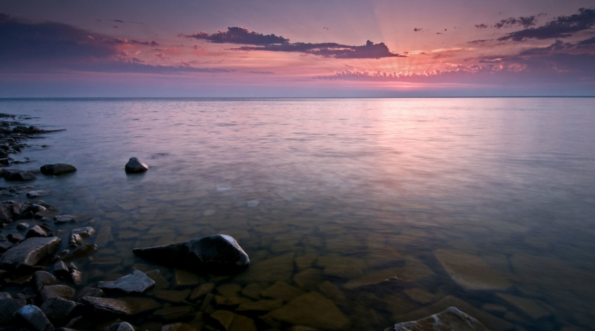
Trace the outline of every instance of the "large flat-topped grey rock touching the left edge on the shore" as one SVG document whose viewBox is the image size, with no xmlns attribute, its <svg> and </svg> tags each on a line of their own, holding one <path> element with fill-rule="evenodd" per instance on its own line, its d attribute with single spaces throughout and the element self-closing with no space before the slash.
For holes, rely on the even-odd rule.
<svg viewBox="0 0 595 331">
<path fill-rule="evenodd" d="M 15 247 L 7 250 L 0 257 L 0 268 L 5 270 L 32 267 L 51 254 L 60 245 L 58 237 L 35 237 L 25 239 Z"/>
</svg>

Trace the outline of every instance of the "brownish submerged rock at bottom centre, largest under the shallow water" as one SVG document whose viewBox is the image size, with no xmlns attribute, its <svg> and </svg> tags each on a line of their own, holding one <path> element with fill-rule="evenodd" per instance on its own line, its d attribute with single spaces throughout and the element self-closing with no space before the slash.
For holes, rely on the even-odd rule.
<svg viewBox="0 0 595 331">
<path fill-rule="evenodd" d="M 349 319 L 339 308 L 318 292 L 309 292 L 265 315 L 291 324 L 311 326 L 323 330 L 345 329 Z"/>
</svg>

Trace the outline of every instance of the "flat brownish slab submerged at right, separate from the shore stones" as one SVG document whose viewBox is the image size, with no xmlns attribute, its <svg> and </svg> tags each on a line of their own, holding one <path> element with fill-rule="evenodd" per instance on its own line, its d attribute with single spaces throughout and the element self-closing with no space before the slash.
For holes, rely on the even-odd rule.
<svg viewBox="0 0 595 331">
<path fill-rule="evenodd" d="M 452 250 L 435 250 L 434 255 L 450 278 L 466 289 L 507 289 L 512 284 L 480 257 Z"/>
</svg>

